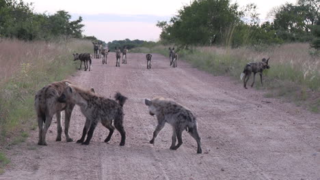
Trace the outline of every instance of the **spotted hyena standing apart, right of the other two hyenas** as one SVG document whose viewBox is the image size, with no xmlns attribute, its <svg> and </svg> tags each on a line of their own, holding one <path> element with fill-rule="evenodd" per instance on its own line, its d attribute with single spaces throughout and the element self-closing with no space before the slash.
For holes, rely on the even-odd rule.
<svg viewBox="0 0 320 180">
<path fill-rule="evenodd" d="M 145 104 L 149 108 L 150 115 L 156 115 L 158 120 L 158 125 L 155 132 L 153 132 L 150 144 L 155 143 L 155 138 L 157 138 L 159 132 L 167 122 L 172 125 L 173 130 L 170 149 L 176 150 L 183 144 L 182 133 L 183 130 L 187 130 L 187 132 L 189 132 L 189 134 L 197 141 L 197 153 L 202 153 L 201 138 L 197 129 L 198 123 L 196 117 L 194 117 L 189 109 L 173 100 L 165 99 L 163 97 L 155 97 L 152 100 L 146 99 Z M 178 138 L 177 145 L 176 138 Z"/>
</svg>

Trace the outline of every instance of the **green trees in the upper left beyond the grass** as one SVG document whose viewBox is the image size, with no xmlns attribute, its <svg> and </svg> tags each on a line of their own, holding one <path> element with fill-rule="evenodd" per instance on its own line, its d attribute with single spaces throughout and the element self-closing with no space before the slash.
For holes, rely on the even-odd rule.
<svg viewBox="0 0 320 180">
<path fill-rule="evenodd" d="M 51 40 L 55 37 L 82 37 L 81 16 L 70 20 L 66 11 L 53 15 L 35 13 L 31 3 L 0 0 L 0 37 L 19 40 Z"/>
</svg>

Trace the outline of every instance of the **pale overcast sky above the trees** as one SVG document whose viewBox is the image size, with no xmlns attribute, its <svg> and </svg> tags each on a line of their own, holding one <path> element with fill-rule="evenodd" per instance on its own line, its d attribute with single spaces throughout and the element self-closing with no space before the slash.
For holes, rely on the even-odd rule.
<svg viewBox="0 0 320 180">
<path fill-rule="evenodd" d="M 157 20 L 170 20 L 183 5 L 192 0 L 23 0 L 34 3 L 36 12 L 54 14 L 65 10 L 72 18 L 82 16 L 84 35 L 94 35 L 105 42 L 113 40 L 159 40 Z M 232 0 L 232 2 L 236 2 Z M 260 18 L 275 6 L 296 0 L 237 0 L 240 7 L 256 3 Z"/>
</svg>

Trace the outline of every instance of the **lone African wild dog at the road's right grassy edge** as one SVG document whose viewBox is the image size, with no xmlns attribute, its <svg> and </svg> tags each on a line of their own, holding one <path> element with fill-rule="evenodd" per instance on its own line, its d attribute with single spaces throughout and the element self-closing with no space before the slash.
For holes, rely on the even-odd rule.
<svg viewBox="0 0 320 180">
<path fill-rule="evenodd" d="M 243 78 L 243 87 L 245 89 L 247 89 L 247 82 L 248 82 L 252 72 L 254 73 L 254 78 L 256 76 L 256 73 L 257 72 L 259 73 L 260 79 L 261 79 L 261 85 L 263 86 L 262 73 L 263 73 L 263 70 L 270 68 L 270 66 L 268 64 L 269 63 L 269 59 L 270 58 L 268 58 L 266 60 L 265 58 L 263 58 L 261 62 L 248 63 L 247 65 L 245 65 L 245 68 L 244 68 L 243 72 L 240 75 L 240 80 L 242 80 L 242 78 L 244 76 L 244 78 Z M 247 79 L 245 80 L 245 78 L 247 78 Z M 253 85 L 254 85 L 254 80 L 252 82 L 251 87 L 253 87 Z"/>
</svg>

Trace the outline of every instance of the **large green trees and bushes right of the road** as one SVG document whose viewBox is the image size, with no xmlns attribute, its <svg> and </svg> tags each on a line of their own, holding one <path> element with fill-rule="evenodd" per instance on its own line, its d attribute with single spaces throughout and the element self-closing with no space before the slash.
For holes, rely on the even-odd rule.
<svg viewBox="0 0 320 180">
<path fill-rule="evenodd" d="M 319 29 L 319 8 L 320 0 L 286 3 L 270 13 L 274 22 L 260 23 L 253 3 L 240 10 L 230 0 L 195 0 L 169 21 L 158 22 L 157 27 L 162 29 L 161 42 L 185 47 L 310 42 L 319 38 L 319 30 L 315 32 Z"/>
</svg>

